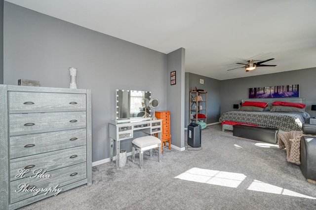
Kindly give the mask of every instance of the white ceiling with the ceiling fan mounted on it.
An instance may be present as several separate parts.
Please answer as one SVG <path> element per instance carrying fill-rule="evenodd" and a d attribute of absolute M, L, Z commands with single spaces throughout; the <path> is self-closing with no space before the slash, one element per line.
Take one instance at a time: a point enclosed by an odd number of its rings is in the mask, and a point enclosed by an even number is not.
<path fill-rule="evenodd" d="M 186 72 L 219 80 L 316 67 L 316 0 L 6 1 L 162 53 L 183 47 Z"/>

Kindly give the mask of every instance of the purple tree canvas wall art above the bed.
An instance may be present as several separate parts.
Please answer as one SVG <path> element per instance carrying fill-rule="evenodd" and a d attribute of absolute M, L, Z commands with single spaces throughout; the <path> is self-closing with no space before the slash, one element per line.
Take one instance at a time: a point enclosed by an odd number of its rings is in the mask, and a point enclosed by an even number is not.
<path fill-rule="evenodd" d="M 298 98 L 299 85 L 281 85 L 249 88 L 249 99 Z"/>

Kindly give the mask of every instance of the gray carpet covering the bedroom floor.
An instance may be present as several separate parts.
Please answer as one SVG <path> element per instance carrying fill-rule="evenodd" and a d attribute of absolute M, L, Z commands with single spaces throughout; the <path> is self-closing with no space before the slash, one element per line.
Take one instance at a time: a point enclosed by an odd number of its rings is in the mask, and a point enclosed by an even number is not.
<path fill-rule="evenodd" d="M 164 148 L 158 156 L 144 155 L 144 169 L 128 156 L 120 170 L 115 163 L 93 167 L 91 186 L 80 186 L 60 193 L 23 210 L 315 210 L 316 184 L 306 181 L 299 167 L 286 162 L 286 151 L 278 147 L 260 147 L 255 140 L 223 133 L 220 125 L 202 130 L 202 147 L 185 151 Z M 136 157 L 138 158 L 138 156 Z M 230 175 L 224 185 L 241 174 L 235 187 L 175 178 L 192 168 Z M 236 173 L 236 174 L 231 174 Z M 220 173 L 221 174 L 221 173 Z M 205 175 L 192 175 L 205 177 Z M 226 181 L 225 181 L 226 180 Z M 256 181 L 257 180 L 257 181 Z M 261 191 L 250 190 L 263 186 Z M 268 192 L 267 192 L 268 191 Z"/>

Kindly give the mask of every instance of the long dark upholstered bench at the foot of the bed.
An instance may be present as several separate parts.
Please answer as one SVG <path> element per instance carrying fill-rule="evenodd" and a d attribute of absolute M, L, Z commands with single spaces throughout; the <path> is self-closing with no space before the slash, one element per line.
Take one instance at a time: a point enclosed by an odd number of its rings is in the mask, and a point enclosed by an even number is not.
<path fill-rule="evenodd" d="M 277 143 L 277 129 L 247 125 L 234 125 L 233 136 L 268 143 Z"/>

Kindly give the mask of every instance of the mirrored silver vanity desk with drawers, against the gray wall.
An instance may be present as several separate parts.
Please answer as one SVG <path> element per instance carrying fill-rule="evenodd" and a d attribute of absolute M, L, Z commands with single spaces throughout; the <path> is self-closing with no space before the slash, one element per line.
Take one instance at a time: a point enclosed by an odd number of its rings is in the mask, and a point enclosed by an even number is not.
<path fill-rule="evenodd" d="M 135 131 L 142 131 L 148 135 L 158 134 L 161 140 L 161 121 L 162 119 L 151 120 L 150 118 L 132 118 L 120 121 L 109 122 L 110 138 L 110 162 L 113 161 L 113 144 L 116 141 L 116 168 L 119 169 L 120 141 L 134 138 Z"/>

